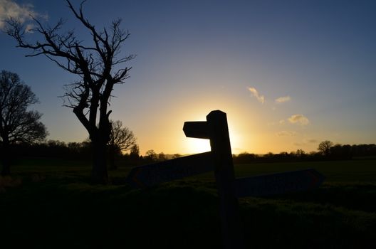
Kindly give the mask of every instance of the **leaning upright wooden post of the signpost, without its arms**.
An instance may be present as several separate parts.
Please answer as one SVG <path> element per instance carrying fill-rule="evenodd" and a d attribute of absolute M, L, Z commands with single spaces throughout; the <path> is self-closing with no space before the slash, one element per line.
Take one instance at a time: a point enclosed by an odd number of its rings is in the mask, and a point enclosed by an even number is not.
<path fill-rule="evenodd" d="M 221 231 L 224 248 L 244 248 L 226 113 L 219 110 L 210 112 L 207 115 L 207 124 L 211 153 L 214 157 L 214 174 L 221 201 Z"/>

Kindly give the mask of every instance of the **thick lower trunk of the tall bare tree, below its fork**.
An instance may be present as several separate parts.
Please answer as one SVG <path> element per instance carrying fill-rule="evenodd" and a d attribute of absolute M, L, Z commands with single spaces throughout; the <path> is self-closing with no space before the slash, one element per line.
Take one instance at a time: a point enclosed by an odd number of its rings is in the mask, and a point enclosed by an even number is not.
<path fill-rule="evenodd" d="M 94 184 L 108 184 L 106 143 L 93 141 L 93 170 L 91 179 Z"/>

